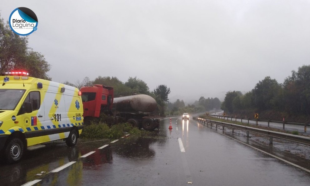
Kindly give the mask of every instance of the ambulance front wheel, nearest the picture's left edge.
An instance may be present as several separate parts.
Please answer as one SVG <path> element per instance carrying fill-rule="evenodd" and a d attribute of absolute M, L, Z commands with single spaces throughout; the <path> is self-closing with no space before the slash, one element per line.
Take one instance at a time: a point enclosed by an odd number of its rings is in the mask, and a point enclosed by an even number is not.
<path fill-rule="evenodd" d="M 8 164 L 18 162 L 24 154 L 24 144 L 19 138 L 12 138 L 4 149 L 5 159 Z"/>

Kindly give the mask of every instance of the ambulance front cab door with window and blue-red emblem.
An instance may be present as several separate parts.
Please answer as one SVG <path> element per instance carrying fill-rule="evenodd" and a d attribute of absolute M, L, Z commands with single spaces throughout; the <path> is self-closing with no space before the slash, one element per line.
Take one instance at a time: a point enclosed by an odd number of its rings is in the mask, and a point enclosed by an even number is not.
<path fill-rule="evenodd" d="M 26 113 L 25 105 L 31 103 L 32 112 Z M 45 128 L 42 123 L 45 120 L 44 104 L 41 104 L 41 93 L 37 90 L 30 90 L 22 107 L 18 112 L 22 116 L 22 129 L 27 135 L 27 145 L 34 145 L 44 142 Z"/>

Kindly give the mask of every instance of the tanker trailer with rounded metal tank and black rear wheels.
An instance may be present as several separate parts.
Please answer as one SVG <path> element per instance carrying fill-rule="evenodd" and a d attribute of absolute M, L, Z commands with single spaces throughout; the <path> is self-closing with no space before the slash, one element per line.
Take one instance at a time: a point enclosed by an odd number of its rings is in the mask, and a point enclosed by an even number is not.
<path fill-rule="evenodd" d="M 159 128 L 160 120 L 150 118 L 149 115 L 156 107 L 155 99 L 149 95 L 129 95 L 114 98 L 112 112 L 139 129 L 153 130 Z"/>

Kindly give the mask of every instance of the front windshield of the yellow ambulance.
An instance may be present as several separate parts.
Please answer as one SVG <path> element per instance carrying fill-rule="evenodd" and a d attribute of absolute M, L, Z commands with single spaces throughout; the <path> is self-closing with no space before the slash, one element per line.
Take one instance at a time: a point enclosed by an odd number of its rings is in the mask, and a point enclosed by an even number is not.
<path fill-rule="evenodd" d="M 0 89 L 0 110 L 14 110 L 25 90 Z"/>

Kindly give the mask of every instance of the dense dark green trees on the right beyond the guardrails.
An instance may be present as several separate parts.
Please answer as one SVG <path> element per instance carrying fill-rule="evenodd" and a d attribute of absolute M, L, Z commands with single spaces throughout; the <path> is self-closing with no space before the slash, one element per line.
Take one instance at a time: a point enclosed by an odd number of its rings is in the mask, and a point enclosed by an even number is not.
<path fill-rule="evenodd" d="M 252 116 L 259 113 L 263 119 L 295 122 L 310 121 L 310 65 L 303 65 L 298 71 L 284 79 L 283 83 L 266 76 L 252 91 L 229 91 L 221 109 L 237 116 Z"/>

